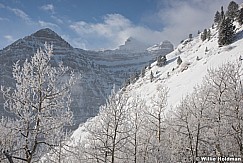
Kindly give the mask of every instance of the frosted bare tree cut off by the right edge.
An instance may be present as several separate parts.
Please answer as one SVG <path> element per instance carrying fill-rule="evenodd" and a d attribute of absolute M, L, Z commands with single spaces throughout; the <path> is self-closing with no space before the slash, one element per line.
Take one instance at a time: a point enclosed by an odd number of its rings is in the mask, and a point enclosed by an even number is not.
<path fill-rule="evenodd" d="M 237 153 L 243 159 L 243 85 L 242 85 L 242 63 L 226 64 L 226 74 L 229 77 L 227 80 L 227 106 L 225 117 L 229 132 L 230 143 L 228 146 L 229 152 Z M 227 141 L 229 141 L 227 140 Z M 226 150 L 226 149 L 225 149 Z"/>

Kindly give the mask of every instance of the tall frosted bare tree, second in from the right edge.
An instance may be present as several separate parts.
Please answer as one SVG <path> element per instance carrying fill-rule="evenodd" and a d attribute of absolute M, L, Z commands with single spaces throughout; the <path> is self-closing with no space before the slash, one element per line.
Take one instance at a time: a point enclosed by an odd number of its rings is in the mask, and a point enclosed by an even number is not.
<path fill-rule="evenodd" d="M 210 89 L 208 102 L 211 114 L 209 119 L 212 122 L 213 133 L 210 138 L 216 156 L 229 155 L 234 151 L 231 149 L 234 146 L 234 143 L 232 143 L 233 137 L 231 137 L 232 131 L 230 131 L 231 123 L 229 123 L 229 117 L 226 116 L 230 103 L 236 102 L 229 99 L 231 96 L 229 92 L 232 82 L 231 73 L 234 76 L 237 71 L 232 71 L 231 64 L 225 64 L 218 69 L 209 70 L 205 81 L 207 88 Z M 233 116 L 233 114 L 230 113 L 229 116 Z"/>

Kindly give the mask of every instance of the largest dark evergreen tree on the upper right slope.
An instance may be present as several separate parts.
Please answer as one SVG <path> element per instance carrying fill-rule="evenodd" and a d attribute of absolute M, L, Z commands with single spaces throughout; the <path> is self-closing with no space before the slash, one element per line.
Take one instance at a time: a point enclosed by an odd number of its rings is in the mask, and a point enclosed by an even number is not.
<path fill-rule="evenodd" d="M 223 18 L 219 27 L 219 46 L 229 45 L 233 41 L 235 26 L 230 18 Z"/>

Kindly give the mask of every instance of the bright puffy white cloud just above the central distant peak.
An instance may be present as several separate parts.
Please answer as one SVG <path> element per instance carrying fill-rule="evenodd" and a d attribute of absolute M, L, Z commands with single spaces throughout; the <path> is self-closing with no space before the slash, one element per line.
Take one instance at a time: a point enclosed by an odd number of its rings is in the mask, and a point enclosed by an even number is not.
<path fill-rule="evenodd" d="M 160 32 L 142 26 L 135 26 L 120 14 L 108 14 L 101 23 L 74 22 L 70 28 L 86 40 L 87 48 L 114 49 L 123 44 L 128 37 L 134 37 L 145 43 L 162 41 Z"/>

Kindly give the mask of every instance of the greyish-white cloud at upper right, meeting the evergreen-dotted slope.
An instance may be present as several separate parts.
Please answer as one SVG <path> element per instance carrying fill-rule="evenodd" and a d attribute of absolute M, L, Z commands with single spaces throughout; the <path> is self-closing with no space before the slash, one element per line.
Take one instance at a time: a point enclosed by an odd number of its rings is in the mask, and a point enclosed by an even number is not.
<path fill-rule="evenodd" d="M 215 12 L 220 11 L 222 5 L 227 10 L 230 1 L 164 0 L 160 1 L 160 10 L 155 17 L 163 22 L 163 38 L 178 44 L 190 33 L 196 34 L 198 30 L 209 28 L 213 24 Z"/>

